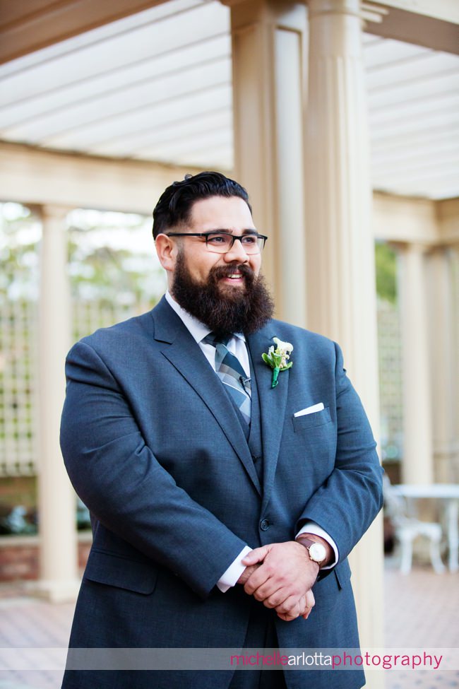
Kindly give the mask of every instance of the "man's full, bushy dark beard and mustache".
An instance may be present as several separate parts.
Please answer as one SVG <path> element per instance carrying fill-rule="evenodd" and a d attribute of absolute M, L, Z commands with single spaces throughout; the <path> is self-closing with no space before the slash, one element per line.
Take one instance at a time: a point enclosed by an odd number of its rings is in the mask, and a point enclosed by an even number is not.
<path fill-rule="evenodd" d="M 263 277 L 244 264 L 237 270 L 245 278 L 244 289 L 221 290 L 219 280 L 234 272 L 234 265 L 214 266 L 208 281 L 198 283 L 190 275 L 184 253 L 180 252 L 174 271 L 172 295 L 191 316 L 204 323 L 211 331 L 244 333 L 259 330 L 273 316 L 274 303 Z"/>

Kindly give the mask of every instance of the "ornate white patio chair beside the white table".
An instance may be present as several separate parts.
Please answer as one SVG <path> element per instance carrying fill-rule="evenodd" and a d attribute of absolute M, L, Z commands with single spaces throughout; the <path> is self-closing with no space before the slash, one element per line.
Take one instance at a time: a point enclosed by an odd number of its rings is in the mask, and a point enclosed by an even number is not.
<path fill-rule="evenodd" d="M 412 565 L 413 541 L 417 536 L 429 538 L 430 561 L 437 574 L 445 571 L 440 556 L 441 524 L 436 522 L 422 522 L 407 513 L 405 497 L 398 493 L 387 476 L 384 476 L 384 509 L 395 531 L 395 538 L 400 543 L 402 558 L 400 572 L 409 574 Z"/>

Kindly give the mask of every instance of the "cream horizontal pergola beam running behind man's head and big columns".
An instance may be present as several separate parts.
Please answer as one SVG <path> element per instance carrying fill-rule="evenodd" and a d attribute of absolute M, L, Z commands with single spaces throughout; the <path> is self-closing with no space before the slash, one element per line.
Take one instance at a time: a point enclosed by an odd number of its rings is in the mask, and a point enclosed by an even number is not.
<path fill-rule="evenodd" d="M 187 172 L 199 170 L 0 141 L 0 201 L 150 215 L 165 187 Z M 375 191 L 371 227 L 375 240 L 457 244 L 459 199 L 431 201 Z"/>

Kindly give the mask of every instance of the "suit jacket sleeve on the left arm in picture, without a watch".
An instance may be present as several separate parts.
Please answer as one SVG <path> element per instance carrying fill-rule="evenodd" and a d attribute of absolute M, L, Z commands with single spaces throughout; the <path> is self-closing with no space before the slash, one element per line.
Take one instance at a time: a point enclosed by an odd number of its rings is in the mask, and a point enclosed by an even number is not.
<path fill-rule="evenodd" d="M 61 449 L 76 493 L 107 529 L 207 596 L 246 543 L 158 463 L 88 343 L 68 353 L 66 377 Z"/>

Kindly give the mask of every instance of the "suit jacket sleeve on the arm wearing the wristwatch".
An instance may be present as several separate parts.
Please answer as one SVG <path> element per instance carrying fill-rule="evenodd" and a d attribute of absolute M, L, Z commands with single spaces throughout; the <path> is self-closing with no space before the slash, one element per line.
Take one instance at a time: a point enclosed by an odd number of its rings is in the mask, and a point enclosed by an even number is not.
<path fill-rule="evenodd" d="M 383 469 L 369 421 L 347 378 L 337 344 L 335 352 L 335 466 L 327 481 L 311 495 L 297 529 L 306 521 L 316 522 L 337 544 L 341 562 L 381 510 Z"/>

